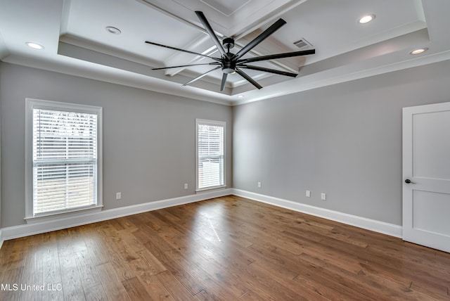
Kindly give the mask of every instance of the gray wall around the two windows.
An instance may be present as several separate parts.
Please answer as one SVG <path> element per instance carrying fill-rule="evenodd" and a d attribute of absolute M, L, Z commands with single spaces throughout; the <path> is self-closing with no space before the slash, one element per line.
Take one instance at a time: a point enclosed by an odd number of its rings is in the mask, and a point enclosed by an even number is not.
<path fill-rule="evenodd" d="M 195 118 L 227 123 L 232 185 L 228 106 L 8 63 L 0 79 L 2 228 L 24 224 L 25 98 L 103 107 L 105 210 L 195 193 Z M 115 200 L 119 191 L 122 200 Z"/>

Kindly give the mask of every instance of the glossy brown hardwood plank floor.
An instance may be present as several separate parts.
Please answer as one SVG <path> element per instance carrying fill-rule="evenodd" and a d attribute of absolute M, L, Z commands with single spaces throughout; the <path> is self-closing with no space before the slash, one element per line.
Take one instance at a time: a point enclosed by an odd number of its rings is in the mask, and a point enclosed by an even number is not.
<path fill-rule="evenodd" d="M 0 267 L 0 300 L 450 300 L 449 253 L 236 196 L 6 241 Z"/>

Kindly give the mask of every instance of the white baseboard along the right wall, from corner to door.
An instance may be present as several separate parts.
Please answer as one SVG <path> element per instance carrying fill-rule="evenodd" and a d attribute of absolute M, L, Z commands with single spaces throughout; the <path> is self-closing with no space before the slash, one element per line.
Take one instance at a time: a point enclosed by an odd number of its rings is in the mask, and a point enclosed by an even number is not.
<path fill-rule="evenodd" d="M 401 238 L 402 227 L 396 224 L 389 224 L 386 222 L 380 222 L 375 219 L 367 219 L 365 217 L 358 217 L 356 215 L 342 213 L 334 210 L 328 210 L 321 207 L 314 207 L 302 203 L 296 203 L 291 200 L 283 200 L 281 198 L 274 198 L 272 196 L 265 196 L 259 193 L 253 193 L 250 191 L 243 191 L 233 188 L 232 193 L 235 196 L 241 196 L 243 198 L 250 198 L 251 200 L 257 200 L 262 203 L 276 205 L 290 210 L 311 214 L 316 217 L 323 217 L 325 219 L 331 219 L 335 222 L 341 222 L 343 224 L 349 224 L 357 226 L 359 228 L 368 229 L 371 231 L 387 234 Z"/>

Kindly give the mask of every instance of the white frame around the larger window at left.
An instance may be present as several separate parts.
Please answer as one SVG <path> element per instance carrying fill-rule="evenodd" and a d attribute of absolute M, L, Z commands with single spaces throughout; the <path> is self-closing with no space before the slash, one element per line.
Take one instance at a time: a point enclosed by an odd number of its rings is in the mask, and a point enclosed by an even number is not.
<path fill-rule="evenodd" d="M 61 215 L 81 215 L 86 211 L 100 211 L 103 207 L 103 108 L 75 103 L 60 103 L 39 99 L 25 99 L 25 220 L 27 223 L 45 219 L 61 218 Z M 60 110 L 65 112 L 89 113 L 97 115 L 97 203 L 88 207 L 34 214 L 33 212 L 33 109 Z"/>

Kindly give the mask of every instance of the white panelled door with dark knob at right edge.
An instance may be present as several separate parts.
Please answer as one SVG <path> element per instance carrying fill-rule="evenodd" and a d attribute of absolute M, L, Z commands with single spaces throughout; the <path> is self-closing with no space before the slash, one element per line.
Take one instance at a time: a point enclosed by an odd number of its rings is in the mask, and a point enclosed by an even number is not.
<path fill-rule="evenodd" d="M 403 239 L 450 252 L 450 103 L 403 108 Z"/>

